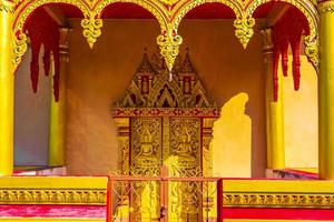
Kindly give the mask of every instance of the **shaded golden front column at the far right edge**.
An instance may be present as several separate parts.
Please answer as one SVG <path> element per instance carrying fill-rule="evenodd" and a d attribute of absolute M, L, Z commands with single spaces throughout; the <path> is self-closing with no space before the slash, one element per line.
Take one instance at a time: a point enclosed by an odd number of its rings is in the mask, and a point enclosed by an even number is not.
<path fill-rule="evenodd" d="M 321 65 L 318 77 L 320 178 L 334 180 L 334 1 L 318 4 Z"/>

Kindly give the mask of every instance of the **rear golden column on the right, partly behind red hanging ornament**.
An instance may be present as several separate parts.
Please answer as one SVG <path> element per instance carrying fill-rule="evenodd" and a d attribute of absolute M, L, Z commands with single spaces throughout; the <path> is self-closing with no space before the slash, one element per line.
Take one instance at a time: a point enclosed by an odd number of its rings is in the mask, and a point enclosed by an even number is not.
<path fill-rule="evenodd" d="M 267 133 L 267 169 L 285 168 L 284 150 L 284 111 L 283 111 L 283 75 L 278 72 L 278 100 L 274 101 L 274 44 L 272 29 L 262 30 L 264 37 L 265 92 L 266 92 L 266 133 Z"/>

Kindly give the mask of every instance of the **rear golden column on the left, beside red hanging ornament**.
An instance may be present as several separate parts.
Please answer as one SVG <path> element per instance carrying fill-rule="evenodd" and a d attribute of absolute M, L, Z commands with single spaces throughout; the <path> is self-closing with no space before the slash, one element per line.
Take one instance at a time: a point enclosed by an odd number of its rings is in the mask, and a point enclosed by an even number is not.
<path fill-rule="evenodd" d="M 50 102 L 50 135 L 49 135 L 49 165 L 65 165 L 65 124 L 66 124 L 66 79 L 69 62 L 69 33 L 70 29 L 60 28 L 60 72 L 59 72 L 59 101 L 53 98 L 51 87 Z M 55 62 L 51 68 L 51 82 L 55 71 Z"/>

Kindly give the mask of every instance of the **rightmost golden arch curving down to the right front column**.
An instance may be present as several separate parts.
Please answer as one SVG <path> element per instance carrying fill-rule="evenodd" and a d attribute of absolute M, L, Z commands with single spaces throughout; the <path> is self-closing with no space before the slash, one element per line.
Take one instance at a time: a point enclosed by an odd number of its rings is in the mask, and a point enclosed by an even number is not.
<path fill-rule="evenodd" d="M 316 71 L 318 71 L 318 27 L 320 27 L 320 16 L 312 0 L 279 0 L 281 2 L 288 3 L 297 8 L 306 18 L 310 26 L 310 34 L 305 37 L 305 54 L 312 62 Z M 252 16 L 254 11 L 265 4 L 271 2 L 271 0 L 252 0 L 246 8 L 246 13 Z"/>

